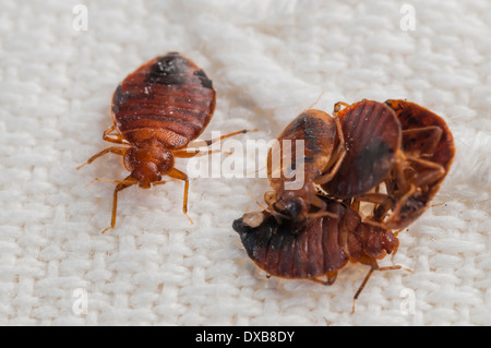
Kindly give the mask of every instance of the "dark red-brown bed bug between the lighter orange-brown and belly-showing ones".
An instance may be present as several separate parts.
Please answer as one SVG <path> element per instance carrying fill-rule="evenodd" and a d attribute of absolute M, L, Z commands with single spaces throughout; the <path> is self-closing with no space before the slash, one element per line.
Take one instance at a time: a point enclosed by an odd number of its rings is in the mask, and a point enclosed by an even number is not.
<path fill-rule="evenodd" d="M 343 124 L 347 154 L 337 173 L 322 188 L 340 199 L 359 196 L 390 175 L 400 148 L 400 123 L 387 105 L 367 99 L 350 106 L 337 103 L 334 116 Z"/>

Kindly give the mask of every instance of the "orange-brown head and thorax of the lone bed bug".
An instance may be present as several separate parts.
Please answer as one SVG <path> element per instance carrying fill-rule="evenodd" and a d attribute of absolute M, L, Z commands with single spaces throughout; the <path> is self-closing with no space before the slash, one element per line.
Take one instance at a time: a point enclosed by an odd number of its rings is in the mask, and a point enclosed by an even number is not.
<path fill-rule="evenodd" d="M 124 167 L 141 188 L 148 189 L 173 168 L 173 156 L 161 147 L 131 147 L 124 155 Z"/>

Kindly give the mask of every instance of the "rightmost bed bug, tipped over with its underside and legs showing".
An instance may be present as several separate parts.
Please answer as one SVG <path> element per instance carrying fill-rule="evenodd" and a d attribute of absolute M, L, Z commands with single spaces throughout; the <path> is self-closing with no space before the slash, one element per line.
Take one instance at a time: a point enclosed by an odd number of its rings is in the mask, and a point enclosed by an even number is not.
<path fill-rule="evenodd" d="M 406 100 L 386 100 L 403 128 L 399 158 L 385 187 L 390 205 L 375 211 L 381 220 L 392 209 L 385 226 L 402 229 L 421 216 L 429 207 L 452 165 L 455 146 L 445 121 L 434 112 Z"/>

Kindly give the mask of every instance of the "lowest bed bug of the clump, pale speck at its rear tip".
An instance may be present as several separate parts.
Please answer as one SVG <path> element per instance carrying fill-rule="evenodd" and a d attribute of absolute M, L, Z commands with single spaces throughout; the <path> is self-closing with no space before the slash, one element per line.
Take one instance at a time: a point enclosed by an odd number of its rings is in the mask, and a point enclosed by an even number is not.
<path fill-rule="evenodd" d="M 359 213 L 344 203 L 320 199 L 336 217 L 310 219 L 301 231 L 291 220 L 278 221 L 267 211 L 244 214 L 233 221 L 232 228 L 249 257 L 268 275 L 332 285 L 348 261 L 369 265 L 370 271 L 354 296 L 355 311 L 355 301 L 374 271 L 402 268 L 378 264 L 378 260 L 397 251 L 399 241 L 391 230 L 363 223 Z"/>

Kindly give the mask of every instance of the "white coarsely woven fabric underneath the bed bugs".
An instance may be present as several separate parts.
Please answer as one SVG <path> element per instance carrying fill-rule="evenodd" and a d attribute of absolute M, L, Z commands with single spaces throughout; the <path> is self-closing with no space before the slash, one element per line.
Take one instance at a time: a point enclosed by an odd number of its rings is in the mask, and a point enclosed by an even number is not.
<path fill-rule="evenodd" d="M 0 2 L 0 324 L 491 324 L 491 2 L 83 1 L 86 23 L 80 2 Z M 192 180 L 192 226 L 182 182 L 133 187 L 100 235 L 113 184 L 85 184 L 128 173 L 115 155 L 75 167 L 110 146 L 117 84 L 167 51 L 217 89 L 202 139 L 274 139 L 322 92 L 327 112 L 407 98 L 441 115 L 457 148 L 444 205 L 399 235 L 393 260 L 414 274 L 375 273 L 355 314 L 366 266 L 331 287 L 267 279 L 231 229 L 264 179 Z"/>

